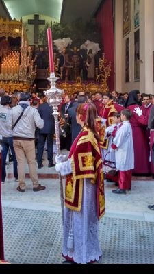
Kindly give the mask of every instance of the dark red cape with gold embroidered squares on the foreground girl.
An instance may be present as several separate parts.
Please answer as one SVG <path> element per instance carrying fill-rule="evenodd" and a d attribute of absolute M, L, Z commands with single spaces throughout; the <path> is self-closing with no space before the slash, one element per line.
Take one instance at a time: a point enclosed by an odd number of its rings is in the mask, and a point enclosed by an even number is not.
<path fill-rule="evenodd" d="M 97 184 L 97 216 L 100 219 L 105 213 L 101 149 L 94 134 L 86 127 L 73 142 L 69 158 L 73 173 L 66 176 L 66 208 L 81 210 L 84 179 L 90 179 L 92 184 Z"/>

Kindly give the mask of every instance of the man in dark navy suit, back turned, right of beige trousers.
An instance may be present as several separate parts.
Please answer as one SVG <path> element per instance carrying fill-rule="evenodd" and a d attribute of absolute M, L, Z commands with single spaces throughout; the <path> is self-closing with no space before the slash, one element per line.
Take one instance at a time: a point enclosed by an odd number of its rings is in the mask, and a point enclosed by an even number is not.
<path fill-rule="evenodd" d="M 41 169 L 42 165 L 42 155 L 44 151 L 45 141 L 47 139 L 47 158 L 48 167 L 55 166 L 53 164 L 53 134 L 55 133 L 55 121 L 53 117 L 53 108 L 47 103 L 47 98 L 42 95 L 41 98 L 43 103 L 39 105 L 38 112 L 41 118 L 44 120 L 44 127 L 39 129 L 38 136 L 38 148 L 37 148 L 37 160 L 38 169 Z"/>

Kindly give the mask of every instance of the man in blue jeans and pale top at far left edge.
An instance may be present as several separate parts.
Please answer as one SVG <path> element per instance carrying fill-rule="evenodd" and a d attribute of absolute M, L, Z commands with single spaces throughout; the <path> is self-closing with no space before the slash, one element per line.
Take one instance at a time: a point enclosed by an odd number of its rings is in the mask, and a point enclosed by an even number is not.
<path fill-rule="evenodd" d="M 8 129 L 7 119 L 8 113 L 10 112 L 10 103 L 11 99 L 9 96 L 4 95 L 1 97 L 1 105 L 0 105 L 0 143 L 2 146 L 2 175 L 1 175 L 1 182 L 5 182 L 6 177 L 6 158 L 8 154 L 8 149 L 10 148 L 13 158 L 13 166 L 14 166 L 14 177 L 16 181 L 18 180 L 18 171 L 17 171 L 17 162 L 16 162 L 16 155 L 14 152 L 13 147 L 13 137 L 12 137 L 12 129 Z"/>

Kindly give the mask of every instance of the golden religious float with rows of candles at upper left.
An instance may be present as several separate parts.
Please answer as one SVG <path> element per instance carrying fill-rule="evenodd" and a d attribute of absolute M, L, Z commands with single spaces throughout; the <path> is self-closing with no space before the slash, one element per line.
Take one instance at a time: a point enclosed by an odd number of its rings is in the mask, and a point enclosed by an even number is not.
<path fill-rule="evenodd" d="M 7 52 L 1 47 L 0 87 L 8 92 L 15 89 L 30 90 L 36 76 L 36 66 L 32 60 L 31 47 L 27 45 L 27 37 L 22 21 L 9 21 L 0 18 L 0 37 L 3 45 L 7 44 L 8 37 L 21 37 L 21 51 Z"/>

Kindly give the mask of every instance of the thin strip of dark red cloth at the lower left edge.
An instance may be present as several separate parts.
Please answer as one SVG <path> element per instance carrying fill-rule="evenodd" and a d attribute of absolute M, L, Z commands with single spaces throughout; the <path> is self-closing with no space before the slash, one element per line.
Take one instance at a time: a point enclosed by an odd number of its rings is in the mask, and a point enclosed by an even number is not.
<path fill-rule="evenodd" d="M 0 153 L 0 260 L 4 259 L 3 252 L 3 223 L 2 223 L 2 208 L 1 208 L 1 153 Z"/>

